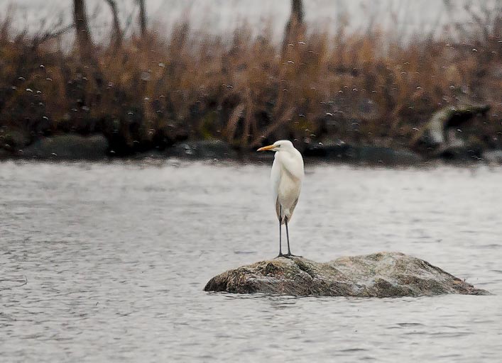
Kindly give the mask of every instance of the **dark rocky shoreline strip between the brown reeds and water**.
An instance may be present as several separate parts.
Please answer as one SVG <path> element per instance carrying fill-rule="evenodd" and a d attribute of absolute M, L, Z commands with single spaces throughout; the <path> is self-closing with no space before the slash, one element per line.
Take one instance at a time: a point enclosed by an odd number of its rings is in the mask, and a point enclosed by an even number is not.
<path fill-rule="evenodd" d="M 73 135 L 75 136 L 75 135 Z M 180 162 L 232 162 L 237 164 L 259 164 L 273 161 L 273 153 L 256 153 L 251 149 L 236 150 L 221 140 L 185 141 L 175 143 L 164 150 L 152 149 L 130 155 L 116 155 L 109 150 L 106 139 L 99 140 L 101 145 L 84 145 L 85 138 L 77 145 L 65 147 L 72 135 L 45 138 L 46 143 L 33 143 L 25 150 L 9 152 L 0 148 L 0 162 L 32 161 L 32 162 L 141 162 L 145 160 L 179 160 Z M 58 144 L 59 138 L 64 141 Z M 50 141 L 47 141 L 50 139 Z M 47 145 L 49 144 L 49 145 Z M 502 150 L 473 150 L 460 148 L 457 153 L 447 156 L 430 157 L 420 155 L 407 148 L 393 149 L 375 145 L 302 145 L 300 150 L 305 164 L 354 165 L 361 167 L 435 167 L 437 165 L 454 165 L 469 167 L 476 164 L 502 165 Z M 56 152 L 58 151 L 58 152 Z M 90 153 L 88 153 L 90 152 Z M 469 155 L 469 152 L 472 155 Z M 480 155 L 480 156 L 479 156 Z"/>

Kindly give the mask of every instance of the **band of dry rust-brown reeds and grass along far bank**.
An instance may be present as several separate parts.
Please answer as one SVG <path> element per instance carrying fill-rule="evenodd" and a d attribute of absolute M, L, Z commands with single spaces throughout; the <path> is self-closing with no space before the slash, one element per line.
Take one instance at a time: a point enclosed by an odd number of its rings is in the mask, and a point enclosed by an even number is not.
<path fill-rule="evenodd" d="M 242 149 L 279 138 L 410 147 L 432 113 L 459 104 L 491 106 L 470 137 L 501 147 L 502 11 L 457 40 L 408 42 L 378 28 L 322 33 L 298 14 L 283 44 L 270 30 L 224 38 L 184 20 L 165 37 L 142 26 L 123 38 L 117 20 L 109 45 L 79 32 L 73 50 L 4 18 L 0 147 L 67 132 L 103 133 L 117 155 L 211 138 Z"/>

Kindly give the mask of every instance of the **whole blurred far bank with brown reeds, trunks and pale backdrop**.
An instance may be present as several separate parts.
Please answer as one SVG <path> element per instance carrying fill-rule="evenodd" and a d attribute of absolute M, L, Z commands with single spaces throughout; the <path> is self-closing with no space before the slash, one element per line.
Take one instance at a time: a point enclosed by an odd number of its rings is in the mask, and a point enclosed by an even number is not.
<path fill-rule="evenodd" d="M 0 13 L 4 157 L 228 157 L 281 138 L 349 161 L 502 157 L 498 1 L 19 0 Z"/>

